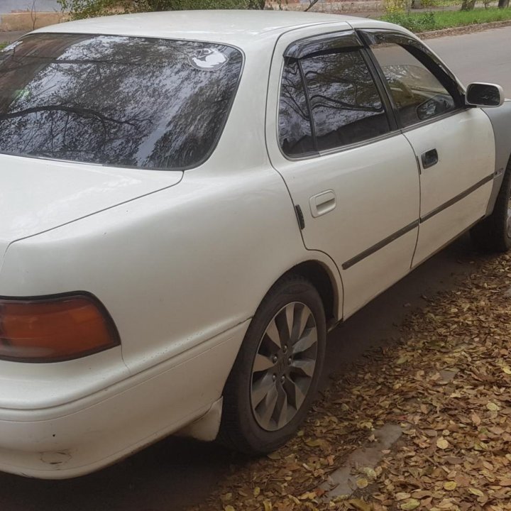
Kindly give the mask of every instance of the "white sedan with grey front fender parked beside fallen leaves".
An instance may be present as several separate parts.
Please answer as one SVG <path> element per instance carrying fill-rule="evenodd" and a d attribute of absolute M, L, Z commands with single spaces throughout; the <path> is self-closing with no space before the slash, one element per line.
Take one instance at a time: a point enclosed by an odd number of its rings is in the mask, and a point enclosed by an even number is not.
<path fill-rule="evenodd" d="M 329 329 L 467 229 L 510 248 L 510 153 L 502 89 L 389 23 L 150 13 L 13 43 L 0 470 L 79 476 L 176 432 L 278 448 Z"/>

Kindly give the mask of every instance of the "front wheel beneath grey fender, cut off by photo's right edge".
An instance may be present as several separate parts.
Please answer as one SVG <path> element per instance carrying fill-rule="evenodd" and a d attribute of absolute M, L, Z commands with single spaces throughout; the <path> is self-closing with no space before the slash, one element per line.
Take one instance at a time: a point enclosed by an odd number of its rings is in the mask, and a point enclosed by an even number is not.
<path fill-rule="evenodd" d="M 493 213 L 471 229 L 473 243 L 480 251 L 507 252 L 511 248 L 511 160 L 507 163 Z"/>

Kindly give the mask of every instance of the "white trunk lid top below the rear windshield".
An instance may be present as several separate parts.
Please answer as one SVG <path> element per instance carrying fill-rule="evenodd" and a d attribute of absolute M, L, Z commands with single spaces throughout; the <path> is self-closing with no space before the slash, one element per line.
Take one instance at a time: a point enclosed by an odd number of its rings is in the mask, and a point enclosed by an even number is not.
<path fill-rule="evenodd" d="M 0 266 L 13 241 L 177 185 L 182 174 L 0 155 Z"/>

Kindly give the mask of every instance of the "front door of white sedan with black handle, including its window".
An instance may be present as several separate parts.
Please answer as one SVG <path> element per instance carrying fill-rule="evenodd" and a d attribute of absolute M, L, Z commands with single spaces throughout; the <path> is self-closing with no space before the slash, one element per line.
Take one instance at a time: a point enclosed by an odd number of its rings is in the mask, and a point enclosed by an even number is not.
<path fill-rule="evenodd" d="M 493 128 L 481 109 L 465 106 L 456 79 L 418 40 L 388 31 L 362 35 L 420 167 L 417 265 L 485 215 Z"/>

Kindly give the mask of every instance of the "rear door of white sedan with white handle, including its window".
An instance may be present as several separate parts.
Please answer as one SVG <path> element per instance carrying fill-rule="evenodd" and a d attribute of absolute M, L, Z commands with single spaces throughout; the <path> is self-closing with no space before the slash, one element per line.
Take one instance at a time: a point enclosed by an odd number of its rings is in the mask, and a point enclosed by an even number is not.
<path fill-rule="evenodd" d="M 306 34 L 287 33 L 275 49 L 268 153 L 305 246 L 341 272 L 347 317 L 410 271 L 419 175 L 356 33 Z"/>

